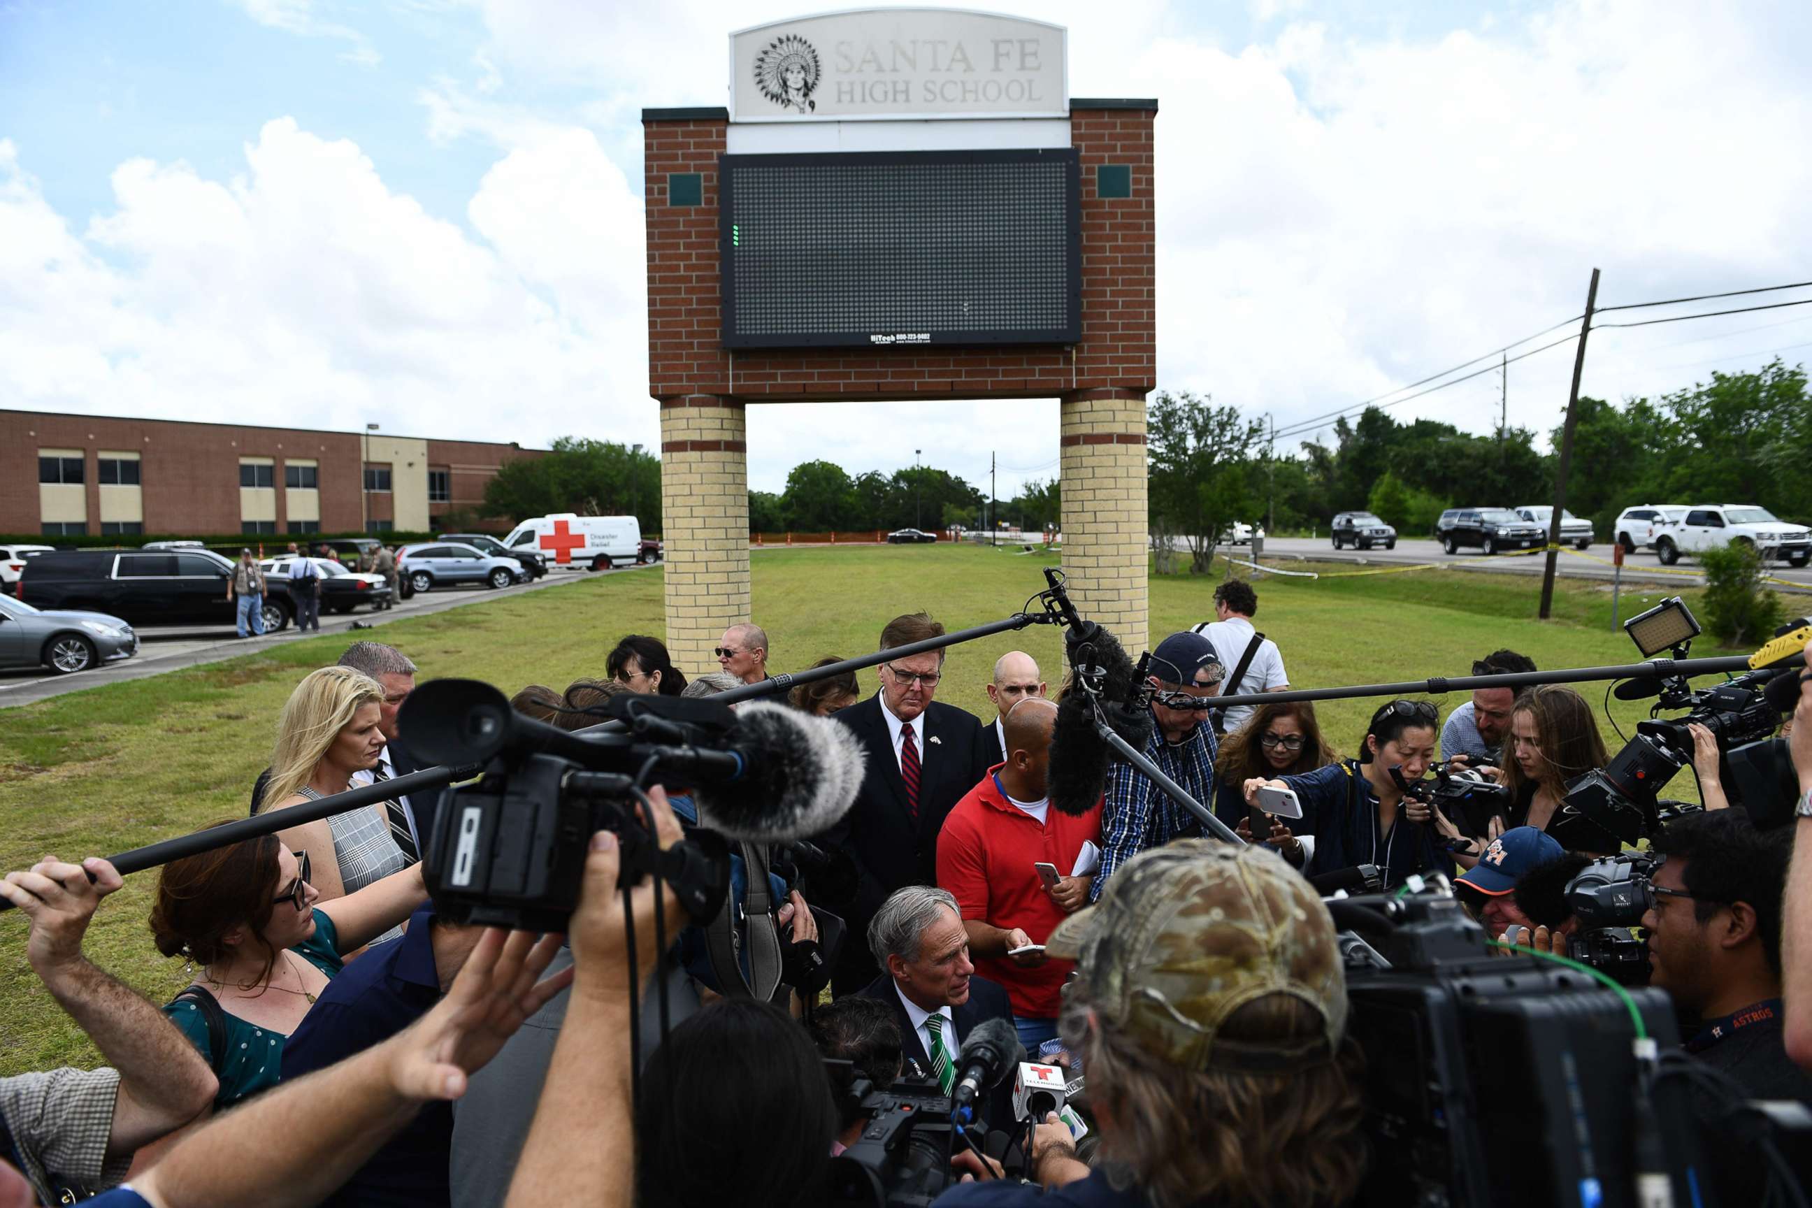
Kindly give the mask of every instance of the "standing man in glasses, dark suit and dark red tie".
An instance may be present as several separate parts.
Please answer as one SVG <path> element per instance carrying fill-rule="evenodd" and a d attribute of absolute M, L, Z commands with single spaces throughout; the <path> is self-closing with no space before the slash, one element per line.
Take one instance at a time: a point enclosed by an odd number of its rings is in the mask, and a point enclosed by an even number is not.
<path fill-rule="evenodd" d="M 922 612 L 881 630 L 881 650 L 940 638 L 944 627 Z M 937 884 L 937 833 L 944 817 L 988 775 L 989 746 L 973 714 L 939 705 L 944 652 L 881 665 L 881 692 L 835 714 L 868 752 L 861 793 L 826 840 L 861 873 L 850 931 L 863 935 L 881 902 L 901 886 Z M 861 944 L 844 944 L 832 987 L 853 994 L 881 969 Z"/>

